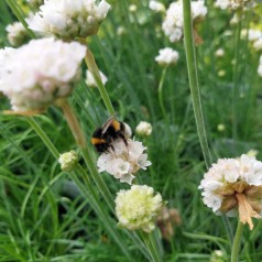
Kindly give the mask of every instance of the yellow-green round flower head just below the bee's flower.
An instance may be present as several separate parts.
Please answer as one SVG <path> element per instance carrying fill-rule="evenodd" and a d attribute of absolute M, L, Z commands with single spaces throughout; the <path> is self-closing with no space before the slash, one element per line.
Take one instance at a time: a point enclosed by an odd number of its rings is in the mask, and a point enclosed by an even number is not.
<path fill-rule="evenodd" d="M 162 196 L 146 185 L 133 185 L 129 190 L 120 190 L 116 198 L 116 214 L 119 227 L 129 230 L 141 229 L 150 233 L 163 207 Z"/>

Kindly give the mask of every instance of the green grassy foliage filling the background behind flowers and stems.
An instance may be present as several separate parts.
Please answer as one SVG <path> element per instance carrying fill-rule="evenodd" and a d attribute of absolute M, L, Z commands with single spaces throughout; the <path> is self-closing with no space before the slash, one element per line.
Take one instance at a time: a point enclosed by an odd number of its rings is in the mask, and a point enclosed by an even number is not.
<path fill-rule="evenodd" d="M 163 1 L 166 7 L 170 2 Z M 247 39 L 239 40 L 237 137 L 233 137 L 232 59 L 237 26 L 230 25 L 231 12 L 215 9 L 212 1 L 207 2 L 207 19 L 198 28 L 203 44 L 196 46 L 196 54 L 214 161 L 237 157 L 251 149 L 258 150 L 258 159 L 261 159 L 261 79 L 256 73 L 260 54 Z M 117 117 L 133 130 L 140 121 L 153 125 L 152 135 L 143 139 L 152 166 L 140 172 L 139 181 L 160 192 L 168 201 L 167 206 L 175 207 L 182 217 L 182 225 L 175 228 L 171 241 L 162 241 L 164 261 L 209 261 L 214 250 L 221 250 L 228 259 L 230 243 L 221 217 L 204 206 L 198 190 L 206 170 L 190 102 L 184 45 L 168 42 L 161 30 L 163 17 L 148 8 L 148 0 L 111 3 L 112 10 L 99 35 L 88 40 L 89 47 L 99 69 L 109 79 L 106 87 Z M 131 3 L 137 4 L 135 12 L 129 11 Z M 0 1 L 0 46 L 6 46 L 4 28 L 15 17 L 6 1 Z M 242 28 L 250 24 L 261 28 L 258 15 L 261 15 L 261 7 L 254 12 L 248 11 Z M 118 33 L 120 28 L 123 29 L 121 35 Z M 163 114 L 159 102 L 163 68 L 154 57 L 165 46 L 177 50 L 179 61 L 166 72 L 163 88 L 166 114 Z M 226 52 L 221 58 L 215 56 L 219 47 Z M 85 70 L 83 65 L 83 76 Z M 225 76 L 220 77 L 219 70 L 225 70 Z M 7 99 L 0 97 L 0 100 L 1 110 L 9 109 Z M 88 146 L 91 146 L 89 141 L 94 130 L 109 117 L 99 91 L 87 87 L 83 77 L 70 101 L 85 130 Z M 57 108 L 51 107 L 35 119 L 59 152 L 76 149 Z M 89 199 L 67 174 L 61 173 L 25 117 L 1 114 L 0 121 L 0 261 L 127 261 L 107 234 Z M 225 130 L 219 131 L 219 124 L 223 124 Z M 127 188 L 107 174 L 102 177 L 113 195 L 120 188 Z M 106 201 L 100 200 L 109 211 Z M 234 230 L 234 219 L 229 222 Z M 254 223 L 252 232 L 244 229 L 242 261 L 262 260 L 262 223 L 256 220 Z M 145 261 L 133 242 L 128 239 L 127 242 L 133 258 Z"/>

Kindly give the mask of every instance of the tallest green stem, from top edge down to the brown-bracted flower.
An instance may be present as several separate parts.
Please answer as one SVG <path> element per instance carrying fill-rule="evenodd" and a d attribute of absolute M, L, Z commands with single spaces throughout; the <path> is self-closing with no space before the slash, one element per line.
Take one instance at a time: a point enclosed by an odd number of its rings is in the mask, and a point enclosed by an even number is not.
<path fill-rule="evenodd" d="M 206 166 L 207 168 L 209 168 L 209 166 L 211 165 L 211 155 L 208 148 L 207 132 L 205 128 L 205 121 L 201 109 L 200 90 L 198 86 L 196 54 L 193 40 L 190 0 L 183 0 L 183 15 L 184 15 L 185 51 L 186 51 L 187 70 L 193 100 L 193 108 L 201 151 L 204 154 Z"/>

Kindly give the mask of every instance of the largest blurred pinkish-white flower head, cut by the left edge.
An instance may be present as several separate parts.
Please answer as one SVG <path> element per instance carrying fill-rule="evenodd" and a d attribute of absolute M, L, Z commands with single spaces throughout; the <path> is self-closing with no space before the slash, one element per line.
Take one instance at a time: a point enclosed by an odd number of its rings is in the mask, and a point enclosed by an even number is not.
<path fill-rule="evenodd" d="M 54 39 L 0 50 L 0 91 L 14 111 L 44 110 L 70 94 L 85 54 L 86 47 L 79 43 Z"/>

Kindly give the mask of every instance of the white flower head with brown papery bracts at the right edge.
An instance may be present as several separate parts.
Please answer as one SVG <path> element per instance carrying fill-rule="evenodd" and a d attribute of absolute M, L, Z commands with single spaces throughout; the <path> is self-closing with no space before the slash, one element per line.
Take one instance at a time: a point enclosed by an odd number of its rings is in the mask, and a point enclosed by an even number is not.
<path fill-rule="evenodd" d="M 240 221 L 253 228 L 252 217 L 262 211 L 262 163 L 242 154 L 222 159 L 209 168 L 199 186 L 204 204 L 214 212 L 239 215 Z"/>

